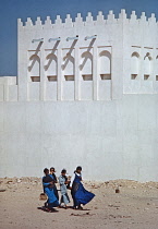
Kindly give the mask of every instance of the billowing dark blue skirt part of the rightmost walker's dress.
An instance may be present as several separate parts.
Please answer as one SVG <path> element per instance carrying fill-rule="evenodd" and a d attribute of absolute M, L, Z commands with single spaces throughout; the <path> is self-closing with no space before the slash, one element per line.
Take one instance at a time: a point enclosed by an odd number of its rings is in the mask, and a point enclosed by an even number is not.
<path fill-rule="evenodd" d="M 85 205 L 90 202 L 95 194 L 85 190 L 82 183 L 78 183 L 77 190 L 73 193 L 75 205 L 78 206 L 81 204 Z"/>

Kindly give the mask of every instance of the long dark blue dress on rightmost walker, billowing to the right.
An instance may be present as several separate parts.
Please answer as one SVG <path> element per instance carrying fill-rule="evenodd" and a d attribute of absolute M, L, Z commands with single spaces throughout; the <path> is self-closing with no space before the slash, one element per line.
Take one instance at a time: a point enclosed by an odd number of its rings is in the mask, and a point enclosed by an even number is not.
<path fill-rule="evenodd" d="M 92 192 L 88 192 L 87 190 L 85 190 L 85 188 L 83 186 L 82 182 L 82 177 L 77 176 L 75 173 L 75 179 L 73 181 L 72 184 L 72 197 L 74 201 L 74 207 L 80 206 L 81 204 L 85 205 L 88 202 L 90 202 L 95 194 Z"/>

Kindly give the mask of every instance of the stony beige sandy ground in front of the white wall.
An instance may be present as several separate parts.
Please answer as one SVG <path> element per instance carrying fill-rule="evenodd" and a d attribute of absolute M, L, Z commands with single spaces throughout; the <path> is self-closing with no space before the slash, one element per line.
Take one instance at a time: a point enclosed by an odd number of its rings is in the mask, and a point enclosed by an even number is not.
<path fill-rule="evenodd" d="M 39 200 L 40 179 L 0 179 L 0 228 L 158 229 L 158 182 L 86 181 L 84 185 L 96 196 L 83 210 L 47 213 Z"/>

